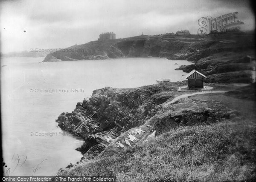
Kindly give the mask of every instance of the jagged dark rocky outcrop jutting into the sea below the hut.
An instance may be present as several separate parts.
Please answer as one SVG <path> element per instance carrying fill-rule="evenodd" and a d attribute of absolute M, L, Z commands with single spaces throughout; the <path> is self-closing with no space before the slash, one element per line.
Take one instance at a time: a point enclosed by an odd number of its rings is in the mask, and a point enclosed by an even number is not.
<path fill-rule="evenodd" d="M 129 128 L 139 126 L 145 118 L 154 115 L 159 104 L 170 96 L 158 98 L 170 86 L 145 86 L 142 88 L 102 88 L 93 91 L 89 100 L 76 105 L 72 113 L 62 113 L 56 122 L 73 134 L 83 137 L 84 145 L 78 148 L 87 159 L 102 152 L 116 137 Z"/>

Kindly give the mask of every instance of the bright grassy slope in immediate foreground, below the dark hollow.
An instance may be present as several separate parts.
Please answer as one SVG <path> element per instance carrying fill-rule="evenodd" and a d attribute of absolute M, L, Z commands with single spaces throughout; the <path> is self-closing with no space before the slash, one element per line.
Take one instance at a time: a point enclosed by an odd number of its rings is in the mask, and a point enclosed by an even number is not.
<path fill-rule="evenodd" d="M 239 93 L 235 93 L 237 97 Z M 208 107 L 221 102 L 240 114 L 211 125 L 177 127 L 149 142 L 65 169 L 61 175 L 116 175 L 124 182 L 256 179 L 254 100 L 208 94 L 182 102 L 198 100 Z"/>

